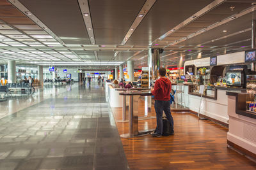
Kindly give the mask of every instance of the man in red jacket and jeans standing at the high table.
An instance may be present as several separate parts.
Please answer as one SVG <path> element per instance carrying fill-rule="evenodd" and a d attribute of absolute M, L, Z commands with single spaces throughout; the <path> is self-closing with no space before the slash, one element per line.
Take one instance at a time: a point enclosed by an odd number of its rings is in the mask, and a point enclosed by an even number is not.
<path fill-rule="evenodd" d="M 155 99 L 155 111 L 156 111 L 156 131 L 152 134 L 153 137 L 161 137 L 163 133 L 163 111 L 166 118 L 169 120 L 171 132 L 173 131 L 173 117 L 170 109 L 170 93 L 172 90 L 171 81 L 165 77 L 166 69 L 161 67 L 159 69 L 160 78 L 156 80 L 154 88 L 151 87 L 152 94 Z"/>

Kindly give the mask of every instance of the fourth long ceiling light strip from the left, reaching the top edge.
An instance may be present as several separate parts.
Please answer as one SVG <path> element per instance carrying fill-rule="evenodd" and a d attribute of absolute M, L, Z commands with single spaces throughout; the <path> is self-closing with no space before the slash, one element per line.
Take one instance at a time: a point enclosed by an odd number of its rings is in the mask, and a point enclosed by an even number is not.
<path fill-rule="evenodd" d="M 166 38 L 167 36 L 170 36 L 170 34 L 172 34 L 173 32 L 181 29 L 182 27 L 188 25 L 189 23 L 193 22 L 194 20 L 196 20 L 198 17 L 204 15 L 205 13 L 207 13 L 208 11 L 211 11 L 213 8 L 216 8 L 216 6 L 219 6 L 220 4 L 224 3 L 225 0 L 215 0 L 212 3 L 210 3 L 209 5 L 205 6 L 204 8 L 202 8 L 202 10 L 196 12 L 194 15 L 192 15 L 191 17 L 187 18 L 186 20 L 184 20 L 184 22 L 181 22 L 179 25 L 177 25 L 176 27 L 173 27 L 172 29 L 170 29 L 170 31 L 166 32 L 165 34 L 163 34 L 163 36 L 157 38 L 156 40 L 154 40 L 152 42 L 152 44 L 157 43 L 157 41 L 160 41 L 164 38 Z M 169 46 L 169 45 L 168 45 Z"/>

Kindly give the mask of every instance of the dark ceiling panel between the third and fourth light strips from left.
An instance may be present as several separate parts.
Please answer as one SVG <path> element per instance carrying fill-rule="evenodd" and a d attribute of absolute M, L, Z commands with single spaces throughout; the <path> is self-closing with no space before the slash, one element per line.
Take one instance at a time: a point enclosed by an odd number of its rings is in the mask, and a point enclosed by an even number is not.
<path fill-rule="evenodd" d="M 148 45 L 211 2 L 212 0 L 156 1 L 127 44 Z"/>

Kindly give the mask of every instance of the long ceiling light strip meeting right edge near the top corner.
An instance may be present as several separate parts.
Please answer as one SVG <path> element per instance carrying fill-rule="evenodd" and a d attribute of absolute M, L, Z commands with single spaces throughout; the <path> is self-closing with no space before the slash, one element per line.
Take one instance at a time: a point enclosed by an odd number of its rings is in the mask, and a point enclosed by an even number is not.
<path fill-rule="evenodd" d="M 175 43 L 170 43 L 169 45 L 165 46 L 165 48 L 168 47 L 168 46 L 170 46 L 170 45 L 177 45 L 178 43 L 181 43 L 182 41 L 185 41 L 185 40 L 187 40 L 187 39 L 189 39 L 189 38 L 193 38 L 193 37 L 195 37 L 195 36 L 198 36 L 199 34 L 202 34 L 202 33 L 204 33 L 205 31 L 209 31 L 209 30 L 211 30 L 211 29 L 214 29 L 214 28 L 216 28 L 216 27 L 219 27 L 220 25 L 227 24 L 228 22 L 234 20 L 234 19 L 230 19 L 230 18 L 232 18 L 232 17 L 234 17 L 234 18 L 243 17 L 243 15 L 246 15 L 246 14 L 248 14 L 248 13 L 251 13 L 251 12 L 253 12 L 253 11 L 255 11 L 255 10 L 256 10 L 256 7 L 252 6 L 252 7 L 248 8 L 248 9 L 246 9 L 246 10 L 241 11 L 240 13 L 237 13 L 236 15 L 232 15 L 232 16 L 230 16 L 230 17 L 228 17 L 228 18 L 225 18 L 225 19 L 221 20 L 220 22 L 216 22 L 215 24 L 212 24 L 212 25 L 210 25 L 209 27 L 206 27 L 206 28 L 204 28 L 204 29 L 198 31 L 198 32 L 196 32 L 196 33 L 193 34 L 193 35 L 191 34 L 191 35 L 187 36 L 186 38 L 182 38 L 182 39 L 180 39 L 179 41 L 175 41 Z"/>

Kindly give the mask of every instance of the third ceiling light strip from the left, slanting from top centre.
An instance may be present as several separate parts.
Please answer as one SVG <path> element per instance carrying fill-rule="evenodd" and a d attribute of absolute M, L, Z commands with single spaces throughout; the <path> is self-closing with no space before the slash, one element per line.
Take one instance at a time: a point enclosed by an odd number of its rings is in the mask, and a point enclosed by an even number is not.
<path fill-rule="evenodd" d="M 131 37 L 132 33 L 135 31 L 135 29 L 140 25 L 140 22 L 145 18 L 148 11 L 152 8 L 154 3 L 156 3 L 157 0 L 147 0 L 143 7 L 141 8 L 140 12 L 138 13 L 137 17 L 133 21 L 131 27 L 125 34 L 125 37 L 123 41 L 121 42 L 121 45 L 125 45 L 125 43 L 128 41 L 128 39 Z M 115 59 L 116 55 L 118 55 L 118 52 L 115 52 L 114 57 L 112 59 Z"/>

